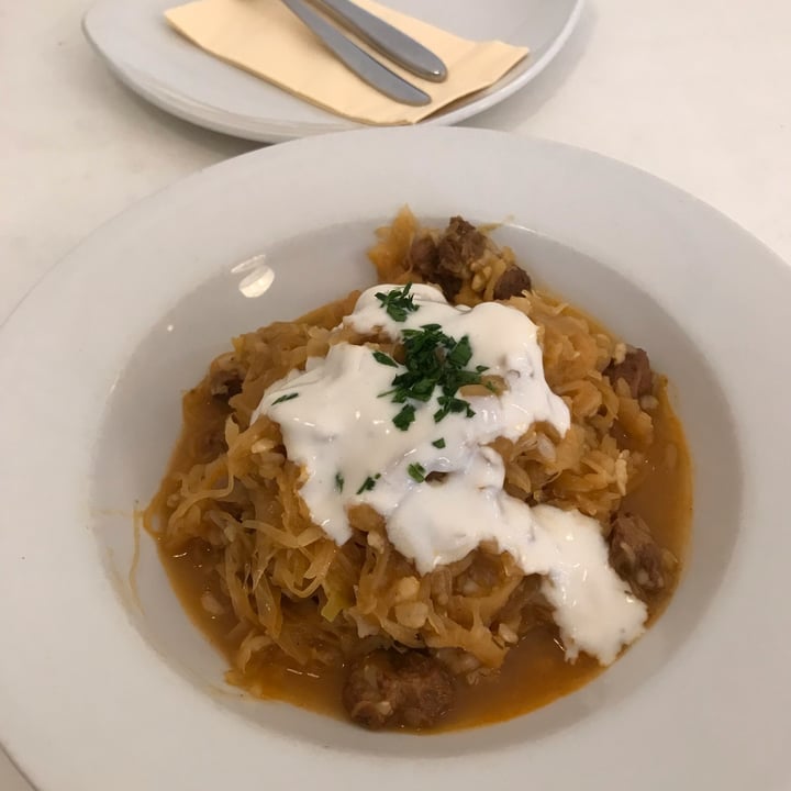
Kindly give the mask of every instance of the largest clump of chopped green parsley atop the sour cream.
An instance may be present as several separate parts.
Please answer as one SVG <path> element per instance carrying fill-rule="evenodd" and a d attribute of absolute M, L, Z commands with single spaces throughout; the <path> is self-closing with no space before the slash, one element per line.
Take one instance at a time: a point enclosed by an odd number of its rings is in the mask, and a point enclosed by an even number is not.
<path fill-rule="evenodd" d="M 381 393 L 390 396 L 393 403 L 404 404 L 393 417 L 396 426 L 406 431 L 415 419 L 415 409 L 409 402 L 430 401 L 436 388 L 442 391 L 437 398 L 439 409 L 434 413 L 436 423 L 450 413 L 464 412 L 471 417 L 475 411 L 469 402 L 456 393 L 466 385 L 480 385 L 487 366 L 477 366 L 475 370 L 465 368 L 472 359 L 469 336 L 456 339 L 446 335 L 439 324 L 403 330 L 401 336 L 405 370 L 393 378 L 391 390 Z"/>

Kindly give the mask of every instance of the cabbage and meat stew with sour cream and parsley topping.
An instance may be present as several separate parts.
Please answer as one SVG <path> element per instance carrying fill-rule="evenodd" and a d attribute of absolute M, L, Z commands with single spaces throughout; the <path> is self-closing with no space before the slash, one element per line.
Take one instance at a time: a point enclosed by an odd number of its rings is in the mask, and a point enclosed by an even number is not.
<path fill-rule="evenodd" d="M 461 218 L 233 341 L 146 525 L 227 680 L 369 728 L 508 718 L 611 665 L 683 564 L 667 380 Z"/>

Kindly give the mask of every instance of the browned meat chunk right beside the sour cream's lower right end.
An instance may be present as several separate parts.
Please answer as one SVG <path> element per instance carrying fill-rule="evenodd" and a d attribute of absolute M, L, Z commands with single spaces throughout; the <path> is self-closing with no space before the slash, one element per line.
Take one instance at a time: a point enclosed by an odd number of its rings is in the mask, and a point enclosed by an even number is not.
<path fill-rule="evenodd" d="M 610 565 L 636 594 L 665 588 L 668 561 L 672 556 L 656 543 L 639 516 L 625 511 L 615 514 L 610 532 Z"/>

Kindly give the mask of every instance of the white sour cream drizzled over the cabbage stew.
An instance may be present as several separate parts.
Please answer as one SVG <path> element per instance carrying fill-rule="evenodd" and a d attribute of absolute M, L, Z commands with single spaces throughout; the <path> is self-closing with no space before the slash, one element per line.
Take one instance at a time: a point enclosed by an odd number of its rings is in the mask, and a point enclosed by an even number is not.
<path fill-rule="evenodd" d="M 438 423 L 435 392 L 426 403 L 414 402 L 415 420 L 401 431 L 392 422 L 401 404 L 379 394 L 391 389 L 403 366 L 382 365 L 369 347 L 342 343 L 325 358 L 309 359 L 304 372 L 269 387 L 252 420 L 267 414 L 280 424 L 289 458 L 303 468 L 300 493 L 336 544 L 352 536 L 346 510 L 359 503 L 385 516 L 391 543 L 422 575 L 492 542 L 524 573 L 544 577 L 566 658 L 582 650 L 611 664 L 643 633 L 647 611 L 609 565 L 599 523 L 579 511 L 531 508 L 506 494 L 503 461 L 487 446 L 500 436 L 516 439 L 538 421 L 560 435 L 569 428 L 568 408 L 544 378 L 536 325 L 494 302 L 453 307 L 441 291 L 421 285 L 411 291 L 417 310 L 396 322 L 376 298 L 396 288 L 365 291 L 344 323 L 393 341 L 402 330 L 425 324 L 439 324 L 457 339 L 467 335 L 472 359 L 466 367 L 488 366 L 486 374 L 500 376 L 508 389 L 467 397 L 475 415 L 452 413 Z M 442 448 L 433 444 L 439 441 Z M 413 464 L 446 477 L 419 482 L 409 474 Z M 368 478 L 374 488 L 360 491 Z"/>

